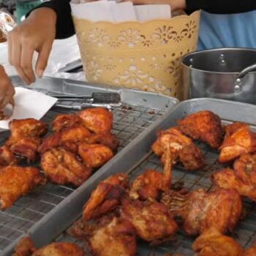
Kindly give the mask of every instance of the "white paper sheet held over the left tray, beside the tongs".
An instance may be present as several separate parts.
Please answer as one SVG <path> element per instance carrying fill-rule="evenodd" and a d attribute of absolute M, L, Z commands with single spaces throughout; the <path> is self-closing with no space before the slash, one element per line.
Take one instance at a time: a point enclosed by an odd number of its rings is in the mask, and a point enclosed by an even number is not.
<path fill-rule="evenodd" d="M 57 99 L 38 91 L 15 88 L 15 106 L 8 120 L 0 121 L 0 131 L 9 129 L 13 119 L 35 118 L 39 120 L 57 102 Z"/>

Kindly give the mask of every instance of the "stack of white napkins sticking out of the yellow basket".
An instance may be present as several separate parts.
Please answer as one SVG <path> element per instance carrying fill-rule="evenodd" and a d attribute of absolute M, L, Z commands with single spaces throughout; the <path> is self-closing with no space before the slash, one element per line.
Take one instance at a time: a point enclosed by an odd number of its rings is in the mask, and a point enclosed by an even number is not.
<path fill-rule="evenodd" d="M 76 18 L 96 21 L 147 21 L 154 19 L 170 19 L 171 10 L 168 4 L 146 4 L 134 6 L 132 2 L 116 3 L 116 1 L 86 0 L 71 1 L 72 15 Z"/>

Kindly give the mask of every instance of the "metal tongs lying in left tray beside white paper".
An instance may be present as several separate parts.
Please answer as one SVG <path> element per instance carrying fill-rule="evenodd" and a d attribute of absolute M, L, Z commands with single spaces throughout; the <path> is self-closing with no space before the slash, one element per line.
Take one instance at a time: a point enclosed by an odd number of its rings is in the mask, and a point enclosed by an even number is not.
<path fill-rule="evenodd" d="M 91 95 L 50 95 L 56 97 L 56 107 L 72 110 L 82 110 L 90 107 L 118 107 L 121 106 L 120 94 L 116 92 L 94 92 Z M 64 105 L 59 102 L 78 102 L 79 105 Z"/>

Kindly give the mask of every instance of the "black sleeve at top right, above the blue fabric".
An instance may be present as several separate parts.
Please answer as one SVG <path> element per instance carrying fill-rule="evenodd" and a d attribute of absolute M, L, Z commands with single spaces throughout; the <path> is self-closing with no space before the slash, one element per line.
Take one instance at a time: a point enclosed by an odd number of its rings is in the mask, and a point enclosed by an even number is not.
<path fill-rule="evenodd" d="M 186 0 L 187 12 L 202 9 L 216 14 L 231 14 L 256 10 L 256 0 Z"/>

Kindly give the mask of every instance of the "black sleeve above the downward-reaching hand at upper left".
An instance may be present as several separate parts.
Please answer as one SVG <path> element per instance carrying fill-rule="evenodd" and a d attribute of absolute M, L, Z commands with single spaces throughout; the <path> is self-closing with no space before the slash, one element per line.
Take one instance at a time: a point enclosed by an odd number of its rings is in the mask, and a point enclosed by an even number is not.
<path fill-rule="evenodd" d="M 47 1 L 37 7 L 49 7 L 56 12 L 56 39 L 64 39 L 75 34 L 69 1 L 71 0 L 52 0 Z"/>

